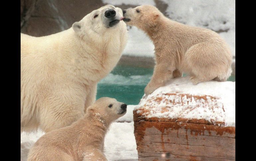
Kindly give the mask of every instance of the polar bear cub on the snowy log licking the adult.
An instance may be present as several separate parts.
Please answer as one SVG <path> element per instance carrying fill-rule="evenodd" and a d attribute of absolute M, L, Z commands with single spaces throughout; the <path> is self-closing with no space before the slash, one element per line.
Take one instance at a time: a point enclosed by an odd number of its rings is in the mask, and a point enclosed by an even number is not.
<path fill-rule="evenodd" d="M 156 65 L 145 94 L 182 72 L 191 76 L 193 84 L 226 81 L 231 75 L 231 51 L 217 33 L 172 21 L 154 6 L 142 5 L 123 13 L 123 21 L 146 32 L 155 45 Z"/>

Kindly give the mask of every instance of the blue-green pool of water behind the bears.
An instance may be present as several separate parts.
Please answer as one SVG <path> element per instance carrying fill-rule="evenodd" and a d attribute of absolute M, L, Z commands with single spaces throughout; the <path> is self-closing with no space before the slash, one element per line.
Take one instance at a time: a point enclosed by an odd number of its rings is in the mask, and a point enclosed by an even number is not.
<path fill-rule="evenodd" d="M 153 68 L 117 65 L 98 83 L 96 99 L 112 97 L 127 105 L 137 105 L 152 74 Z M 228 81 L 234 82 L 235 76 L 230 76 Z"/>

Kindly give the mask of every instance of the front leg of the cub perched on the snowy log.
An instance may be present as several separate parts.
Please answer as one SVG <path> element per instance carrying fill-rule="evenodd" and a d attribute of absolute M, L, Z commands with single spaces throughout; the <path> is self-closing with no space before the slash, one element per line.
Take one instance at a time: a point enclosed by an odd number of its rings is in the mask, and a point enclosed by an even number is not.
<path fill-rule="evenodd" d="M 171 63 L 157 63 L 154 68 L 153 76 L 144 89 L 144 93 L 149 95 L 157 88 L 164 86 L 167 81 L 173 78 L 173 71 L 175 71 L 175 67 Z"/>

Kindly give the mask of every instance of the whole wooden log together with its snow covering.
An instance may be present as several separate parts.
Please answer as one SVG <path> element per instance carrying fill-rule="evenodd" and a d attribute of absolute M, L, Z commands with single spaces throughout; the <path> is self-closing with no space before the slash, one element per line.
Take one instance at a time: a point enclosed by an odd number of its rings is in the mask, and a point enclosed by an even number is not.
<path fill-rule="evenodd" d="M 235 160 L 235 82 L 175 78 L 133 115 L 139 161 Z"/>

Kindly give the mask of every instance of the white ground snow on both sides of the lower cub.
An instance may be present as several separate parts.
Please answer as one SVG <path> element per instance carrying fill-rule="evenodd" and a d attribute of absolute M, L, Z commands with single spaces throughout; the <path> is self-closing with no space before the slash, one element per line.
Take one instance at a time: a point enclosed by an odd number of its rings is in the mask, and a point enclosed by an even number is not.
<path fill-rule="evenodd" d="M 113 122 L 109 127 L 104 141 L 104 154 L 108 161 L 138 160 L 137 146 L 133 133 L 134 107 L 134 105 L 128 105 L 126 114 Z M 21 161 L 27 160 L 29 149 L 44 134 L 41 130 L 31 133 L 21 133 Z"/>

